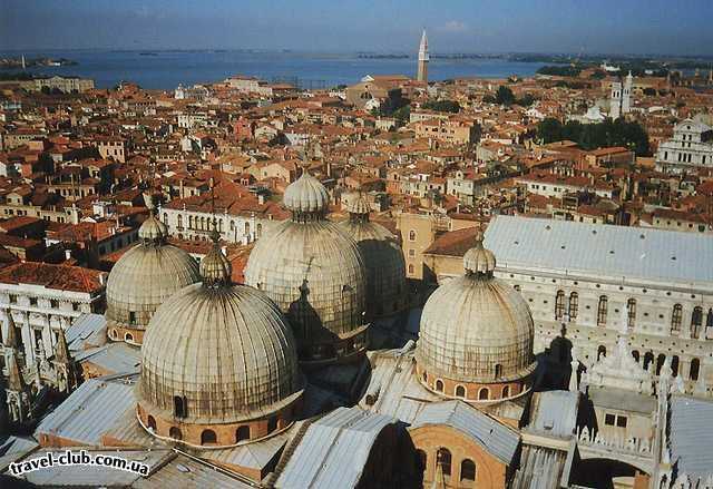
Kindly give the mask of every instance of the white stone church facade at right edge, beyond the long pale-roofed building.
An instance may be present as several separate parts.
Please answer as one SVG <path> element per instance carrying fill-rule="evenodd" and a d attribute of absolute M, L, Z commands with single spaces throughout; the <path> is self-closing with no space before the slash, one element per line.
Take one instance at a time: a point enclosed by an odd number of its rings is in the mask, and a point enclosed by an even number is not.
<path fill-rule="evenodd" d="M 676 124 L 673 139 L 658 145 L 656 169 L 680 173 L 713 168 L 713 128 L 694 119 Z"/>

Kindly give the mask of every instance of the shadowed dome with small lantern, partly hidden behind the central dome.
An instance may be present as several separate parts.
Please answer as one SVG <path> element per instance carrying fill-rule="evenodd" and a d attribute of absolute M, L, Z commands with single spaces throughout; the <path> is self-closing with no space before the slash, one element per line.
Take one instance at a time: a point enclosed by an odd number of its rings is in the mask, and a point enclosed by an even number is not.
<path fill-rule="evenodd" d="M 346 207 L 349 219 L 340 223 L 358 244 L 367 266 L 367 313 L 390 315 L 406 306 L 406 263 L 393 234 L 369 221 L 369 202 L 359 194 Z"/>

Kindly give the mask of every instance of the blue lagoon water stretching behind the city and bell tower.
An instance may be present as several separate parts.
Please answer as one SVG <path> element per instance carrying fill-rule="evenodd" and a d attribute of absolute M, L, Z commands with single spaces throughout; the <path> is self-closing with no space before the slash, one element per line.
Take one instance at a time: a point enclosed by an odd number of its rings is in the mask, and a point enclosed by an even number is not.
<path fill-rule="evenodd" d="M 156 56 L 141 56 L 155 52 Z M 0 56 L 19 56 L 7 52 Z M 42 51 L 25 52 L 27 58 L 47 56 L 77 61 L 77 66 L 40 67 L 29 71 L 43 75 L 76 75 L 91 78 L 98 88 L 116 86 L 121 80 L 144 88 L 174 89 L 213 82 L 231 75 L 248 75 L 267 81 L 297 81 L 304 88 L 354 84 L 364 75 L 401 74 L 414 76 L 416 59 L 361 59 L 356 55 L 245 51 Z M 512 62 L 502 59 L 431 59 L 429 79 L 456 77 L 496 78 L 530 76 L 539 62 Z"/>

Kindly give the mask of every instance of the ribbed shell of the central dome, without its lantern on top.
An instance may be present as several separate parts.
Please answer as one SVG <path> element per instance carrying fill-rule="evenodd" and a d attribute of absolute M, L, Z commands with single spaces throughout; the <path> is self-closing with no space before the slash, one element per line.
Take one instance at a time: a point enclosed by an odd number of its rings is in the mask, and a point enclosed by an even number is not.
<path fill-rule="evenodd" d="M 367 276 L 359 247 L 329 221 L 281 223 L 255 244 L 245 282 L 287 313 L 301 351 L 364 325 Z"/>

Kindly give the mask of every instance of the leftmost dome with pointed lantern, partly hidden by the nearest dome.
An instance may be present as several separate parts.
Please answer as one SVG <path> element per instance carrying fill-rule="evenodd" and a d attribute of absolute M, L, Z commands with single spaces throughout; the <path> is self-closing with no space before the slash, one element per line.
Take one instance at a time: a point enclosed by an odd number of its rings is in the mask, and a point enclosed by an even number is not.
<path fill-rule="evenodd" d="M 107 331 L 113 340 L 141 344 L 156 309 L 201 278 L 191 255 L 166 242 L 168 232 L 152 211 L 138 229 L 139 243 L 111 268 L 107 281 Z"/>

